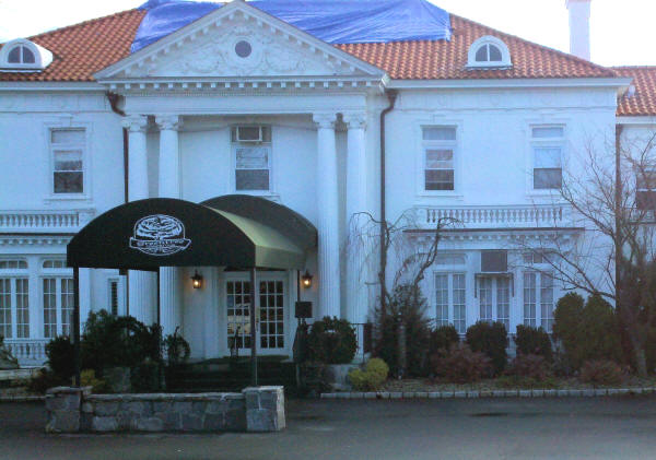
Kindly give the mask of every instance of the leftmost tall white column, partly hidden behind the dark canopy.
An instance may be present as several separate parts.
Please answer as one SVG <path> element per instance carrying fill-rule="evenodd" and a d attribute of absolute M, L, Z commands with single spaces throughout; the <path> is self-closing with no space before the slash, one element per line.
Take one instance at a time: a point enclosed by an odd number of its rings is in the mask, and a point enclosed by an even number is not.
<path fill-rule="evenodd" d="M 144 200 L 149 197 L 145 149 L 148 118 L 132 115 L 124 118 L 122 126 L 129 130 L 128 199 L 129 201 Z M 151 325 L 156 319 L 153 315 L 156 302 L 152 291 L 153 275 L 148 272 L 130 271 L 128 279 L 130 316 Z"/>

